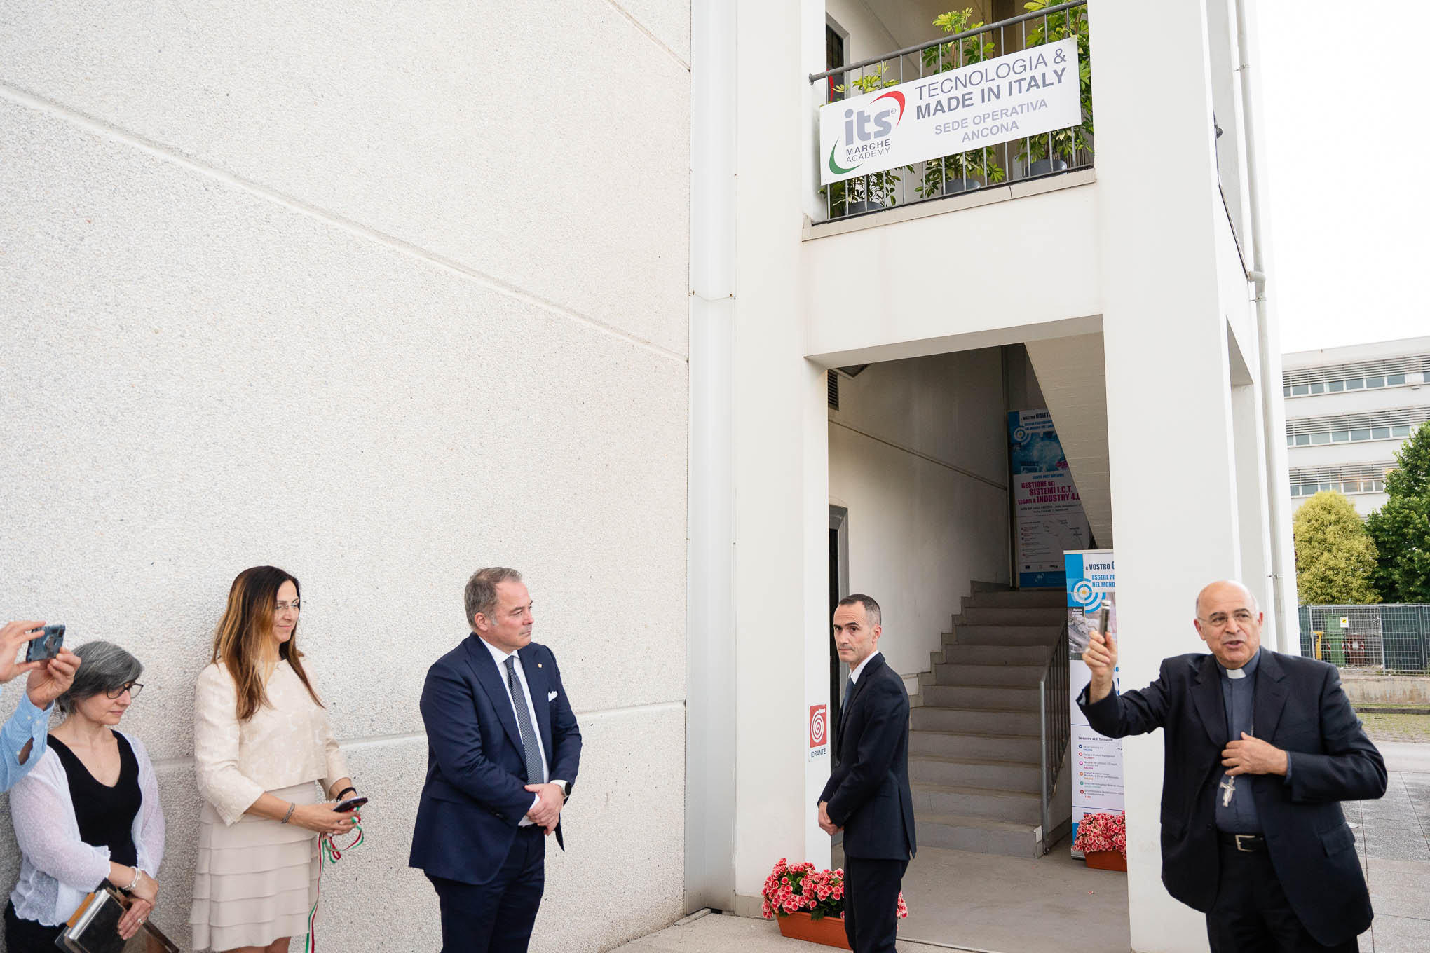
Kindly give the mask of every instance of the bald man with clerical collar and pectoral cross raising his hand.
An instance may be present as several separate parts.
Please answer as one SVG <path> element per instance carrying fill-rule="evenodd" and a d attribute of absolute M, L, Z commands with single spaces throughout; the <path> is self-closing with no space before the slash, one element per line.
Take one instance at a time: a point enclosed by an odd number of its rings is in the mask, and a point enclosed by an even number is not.
<path fill-rule="evenodd" d="M 1211 654 L 1165 659 L 1113 692 L 1117 640 L 1090 633 L 1078 697 L 1108 737 L 1163 729 L 1163 883 L 1207 914 L 1213 953 L 1350 953 L 1370 894 L 1340 802 L 1386 793 L 1386 763 L 1334 666 L 1261 649 L 1261 612 L 1237 582 L 1197 596 Z"/>

